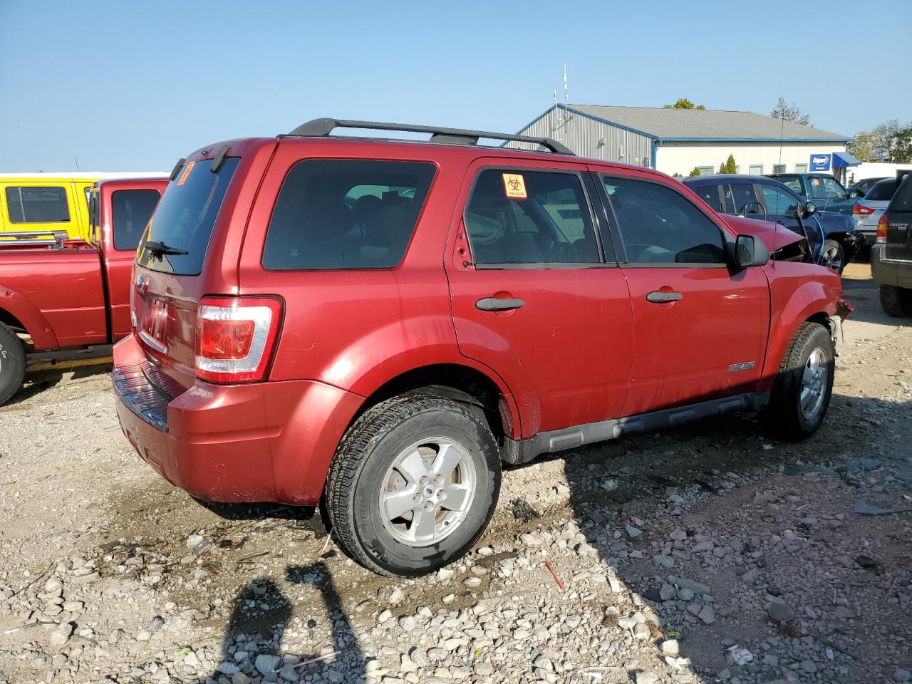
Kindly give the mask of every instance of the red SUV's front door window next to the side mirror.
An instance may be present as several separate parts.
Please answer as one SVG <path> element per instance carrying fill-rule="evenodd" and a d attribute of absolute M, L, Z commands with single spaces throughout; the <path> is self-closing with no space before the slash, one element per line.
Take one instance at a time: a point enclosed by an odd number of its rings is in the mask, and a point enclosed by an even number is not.
<path fill-rule="evenodd" d="M 604 178 L 631 264 L 724 264 L 722 233 L 686 197 L 648 181 Z"/>

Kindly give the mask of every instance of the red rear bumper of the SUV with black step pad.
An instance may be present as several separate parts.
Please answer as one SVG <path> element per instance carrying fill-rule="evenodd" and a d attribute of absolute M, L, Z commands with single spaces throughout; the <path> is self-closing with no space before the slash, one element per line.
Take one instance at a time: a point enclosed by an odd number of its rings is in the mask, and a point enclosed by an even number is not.
<path fill-rule="evenodd" d="M 168 482 L 212 502 L 318 503 L 329 461 L 364 400 L 309 380 L 197 380 L 171 398 L 149 370 L 132 335 L 114 347 L 120 428 Z"/>

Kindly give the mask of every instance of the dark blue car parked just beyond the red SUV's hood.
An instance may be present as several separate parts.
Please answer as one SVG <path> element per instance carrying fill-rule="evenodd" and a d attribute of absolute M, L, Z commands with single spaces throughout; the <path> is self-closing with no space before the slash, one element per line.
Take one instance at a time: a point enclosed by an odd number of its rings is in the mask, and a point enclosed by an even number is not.
<path fill-rule="evenodd" d="M 782 223 L 805 235 L 814 261 L 836 273 L 841 274 L 855 254 L 855 243 L 849 237 L 853 228 L 851 216 L 819 211 L 814 202 L 805 202 L 772 178 L 716 174 L 690 176 L 682 182 L 717 212 Z"/>

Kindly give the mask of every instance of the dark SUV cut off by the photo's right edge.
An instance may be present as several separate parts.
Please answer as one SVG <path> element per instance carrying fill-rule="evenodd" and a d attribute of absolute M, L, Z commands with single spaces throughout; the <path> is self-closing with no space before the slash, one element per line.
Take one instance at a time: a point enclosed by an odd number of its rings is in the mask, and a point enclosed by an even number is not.
<path fill-rule="evenodd" d="M 912 316 L 912 174 L 896 177 L 902 182 L 877 223 L 871 273 L 886 314 Z"/>

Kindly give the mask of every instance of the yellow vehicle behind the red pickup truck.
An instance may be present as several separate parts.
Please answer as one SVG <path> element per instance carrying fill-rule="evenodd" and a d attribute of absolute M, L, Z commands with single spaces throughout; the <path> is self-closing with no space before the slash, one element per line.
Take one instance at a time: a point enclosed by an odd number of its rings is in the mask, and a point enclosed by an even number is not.
<path fill-rule="evenodd" d="M 0 173 L 0 233 L 64 232 L 89 237 L 88 195 L 109 178 L 166 178 L 166 173 Z"/>

